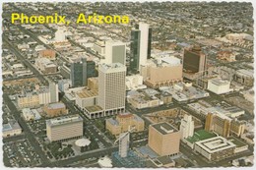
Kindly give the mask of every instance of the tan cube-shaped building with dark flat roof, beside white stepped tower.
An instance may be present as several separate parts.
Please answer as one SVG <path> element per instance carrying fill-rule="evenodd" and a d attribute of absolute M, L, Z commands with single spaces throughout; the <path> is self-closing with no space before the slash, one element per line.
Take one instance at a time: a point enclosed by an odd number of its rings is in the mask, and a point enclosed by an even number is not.
<path fill-rule="evenodd" d="M 150 125 L 149 146 L 160 156 L 179 152 L 180 132 L 168 123 Z"/>

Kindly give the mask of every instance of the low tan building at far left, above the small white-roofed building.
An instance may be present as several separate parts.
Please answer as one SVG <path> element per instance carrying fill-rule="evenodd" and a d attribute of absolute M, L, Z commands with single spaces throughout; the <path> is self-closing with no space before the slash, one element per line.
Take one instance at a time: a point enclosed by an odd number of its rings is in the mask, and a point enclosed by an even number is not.
<path fill-rule="evenodd" d="M 18 95 L 17 104 L 20 108 L 39 106 L 39 95 L 36 92 Z"/>

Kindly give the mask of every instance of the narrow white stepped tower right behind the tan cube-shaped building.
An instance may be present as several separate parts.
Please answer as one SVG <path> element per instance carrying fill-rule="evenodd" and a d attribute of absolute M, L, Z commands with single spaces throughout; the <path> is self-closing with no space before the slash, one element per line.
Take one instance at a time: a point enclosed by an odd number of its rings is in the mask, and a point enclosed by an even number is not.
<path fill-rule="evenodd" d="M 181 120 L 180 124 L 180 133 L 181 139 L 186 139 L 188 137 L 192 137 L 194 135 L 194 121 L 192 120 L 191 115 L 184 115 L 184 118 Z"/>

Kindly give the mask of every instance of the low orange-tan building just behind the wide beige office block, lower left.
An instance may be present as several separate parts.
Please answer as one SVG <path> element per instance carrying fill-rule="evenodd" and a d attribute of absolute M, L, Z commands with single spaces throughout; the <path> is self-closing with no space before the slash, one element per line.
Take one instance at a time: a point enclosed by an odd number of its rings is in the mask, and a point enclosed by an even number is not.
<path fill-rule="evenodd" d="M 68 114 L 68 109 L 66 109 L 65 104 L 62 102 L 46 104 L 43 107 L 43 111 L 48 117 Z"/>

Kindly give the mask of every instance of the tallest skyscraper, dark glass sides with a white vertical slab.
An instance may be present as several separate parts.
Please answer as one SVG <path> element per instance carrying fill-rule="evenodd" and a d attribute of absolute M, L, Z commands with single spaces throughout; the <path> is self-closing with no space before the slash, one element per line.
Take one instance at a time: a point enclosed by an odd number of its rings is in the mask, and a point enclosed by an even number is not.
<path fill-rule="evenodd" d="M 140 65 L 145 65 L 151 58 L 152 28 L 140 23 L 131 31 L 131 71 L 139 71 Z"/>

